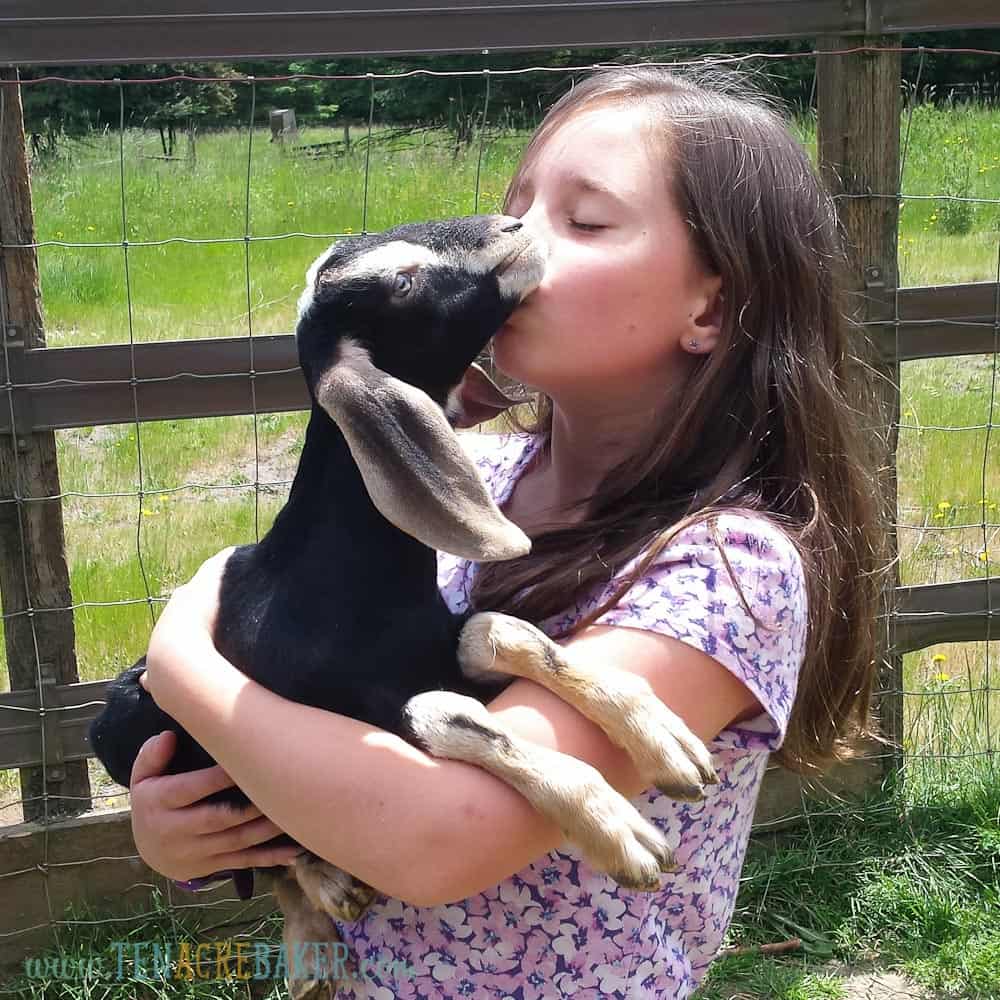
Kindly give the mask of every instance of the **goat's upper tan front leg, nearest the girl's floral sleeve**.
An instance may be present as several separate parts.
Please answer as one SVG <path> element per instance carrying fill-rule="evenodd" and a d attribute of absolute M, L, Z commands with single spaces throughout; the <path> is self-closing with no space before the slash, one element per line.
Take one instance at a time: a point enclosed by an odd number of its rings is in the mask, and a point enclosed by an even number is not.
<path fill-rule="evenodd" d="M 473 680 L 513 674 L 557 694 L 607 734 L 650 784 L 673 799 L 698 802 L 718 782 L 705 744 L 656 697 L 642 677 L 597 673 L 528 622 L 487 612 L 473 615 L 459 639 L 462 673 Z"/>

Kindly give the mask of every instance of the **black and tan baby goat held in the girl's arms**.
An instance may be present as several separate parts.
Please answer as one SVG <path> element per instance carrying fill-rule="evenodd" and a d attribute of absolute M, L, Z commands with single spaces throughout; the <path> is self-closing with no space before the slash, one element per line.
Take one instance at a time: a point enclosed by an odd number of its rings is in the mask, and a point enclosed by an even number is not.
<path fill-rule="evenodd" d="M 314 262 L 296 329 L 312 398 L 305 445 L 273 527 L 226 564 L 214 639 L 285 698 L 486 768 L 558 823 L 593 866 L 652 889 L 674 866 L 660 831 L 594 768 L 506 731 L 483 702 L 512 675 L 535 680 L 675 798 L 700 799 L 716 780 L 705 747 L 645 681 L 585 672 L 510 616 L 455 615 L 437 588 L 435 549 L 488 561 L 530 548 L 486 493 L 449 419 L 470 422 L 463 377 L 540 282 L 544 253 L 519 220 L 473 216 L 338 242 Z M 122 785 L 143 742 L 165 728 L 178 735 L 170 773 L 214 763 L 139 685 L 144 669 L 140 660 L 108 685 L 90 730 Z M 249 800 L 229 788 L 206 801 Z M 289 949 L 330 939 L 327 915 L 355 920 L 374 894 L 308 853 L 275 873 Z M 241 895 L 251 879 L 237 879 Z M 323 988 L 304 976 L 290 983 L 296 998 Z"/>

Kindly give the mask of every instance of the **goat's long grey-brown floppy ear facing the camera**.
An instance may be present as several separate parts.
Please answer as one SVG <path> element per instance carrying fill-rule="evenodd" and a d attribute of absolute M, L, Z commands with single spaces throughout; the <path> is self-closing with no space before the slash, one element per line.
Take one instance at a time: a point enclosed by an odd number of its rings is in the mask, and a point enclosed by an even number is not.
<path fill-rule="evenodd" d="M 531 541 L 500 513 L 426 393 L 345 345 L 319 379 L 316 399 L 344 435 L 372 503 L 401 531 L 478 562 L 530 551 Z"/>

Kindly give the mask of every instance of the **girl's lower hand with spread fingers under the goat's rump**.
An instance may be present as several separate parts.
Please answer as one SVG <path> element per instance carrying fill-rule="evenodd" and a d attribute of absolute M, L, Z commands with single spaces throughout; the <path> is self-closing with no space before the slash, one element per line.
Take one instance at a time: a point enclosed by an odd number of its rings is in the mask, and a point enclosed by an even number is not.
<path fill-rule="evenodd" d="M 176 746 L 172 731 L 154 736 L 142 745 L 132 767 L 132 835 L 142 860 L 179 881 L 227 868 L 291 864 L 302 852 L 297 844 L 259 846 L 284 831 L 256 806 L 237 810 L 222 803 L 197 804 L 234 784 L 218 764 L 164 774 Z"/>

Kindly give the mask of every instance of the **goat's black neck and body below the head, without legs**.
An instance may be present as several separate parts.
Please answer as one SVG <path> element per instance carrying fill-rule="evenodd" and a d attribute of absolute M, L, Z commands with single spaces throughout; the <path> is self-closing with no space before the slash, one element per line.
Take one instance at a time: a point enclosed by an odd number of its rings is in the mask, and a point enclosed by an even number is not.
<path fill-rule="evenodd" d="M 372 506 L 343 435 L 314 406 L 288 502 L 270 532 L 226 564 L 219 652 L 284 698 L 407 738 L 402 709 L 413 695 L 447 689 L 482 700 L 498 690 L 459 670 L 467 617 L 441 598 L 434 551 Z M 139 685 L 143 669 L 140 660 L 109 684 L 91 728 L 108 773 L 127 786 L 139 748 L 164 729 L 178 734 L 170 773 L 214 764 Z M 249 800 L 234 787 L 206 801 Z"/>

